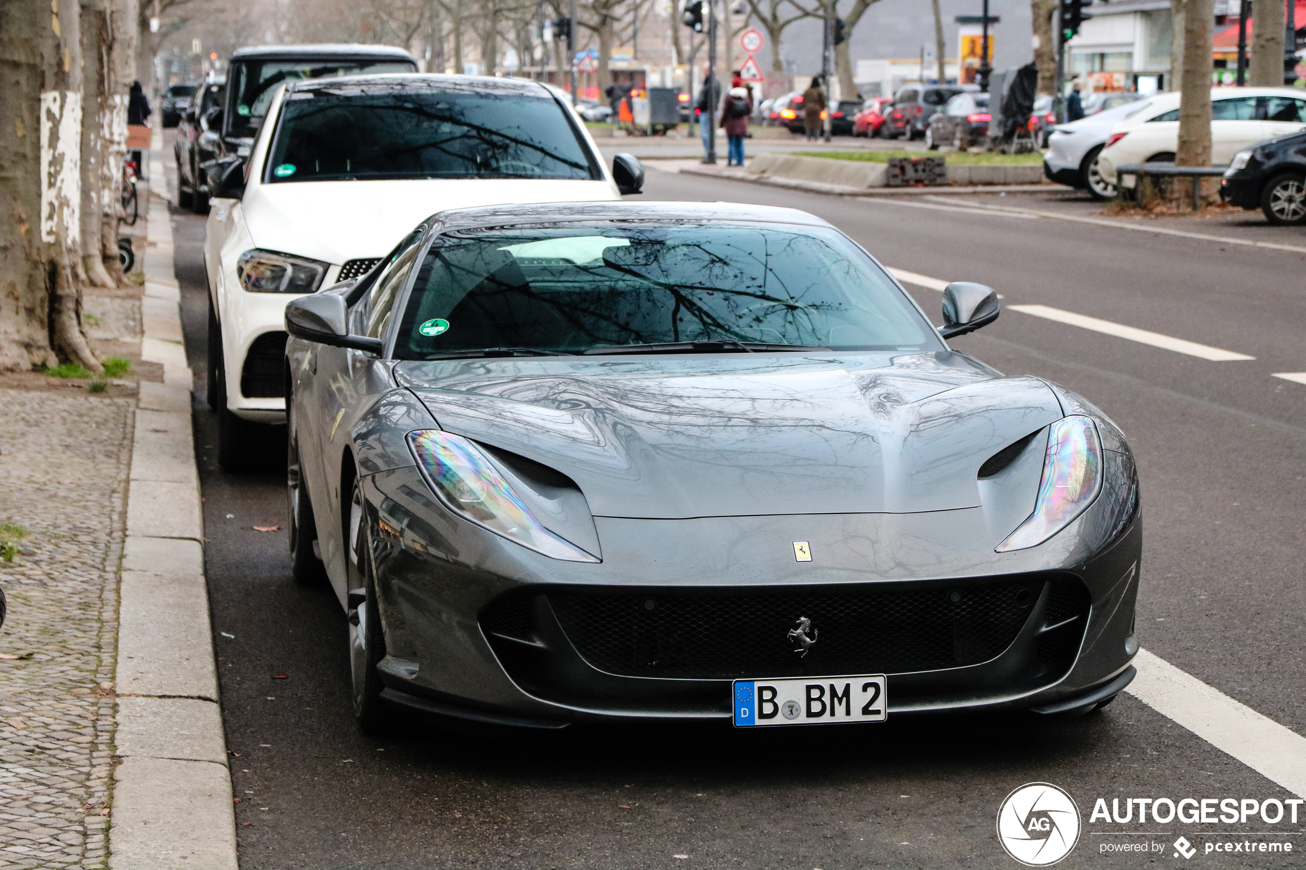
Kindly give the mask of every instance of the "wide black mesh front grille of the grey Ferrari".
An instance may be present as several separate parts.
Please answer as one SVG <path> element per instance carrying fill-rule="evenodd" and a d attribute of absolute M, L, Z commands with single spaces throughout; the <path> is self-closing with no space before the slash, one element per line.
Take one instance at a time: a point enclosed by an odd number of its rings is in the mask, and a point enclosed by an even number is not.
<path fill-rule="evenodd" d="M 1043 578 L 930 590 L 550 592 L 549 601 L 576 651 L 601 670 L 727 680 L 980 664 L 1015 640 L 1042 584 Z M 486 627 L 520 622 L 521 601 L 498 603 Z M 509 617 L 511 609 L 520 616 Z M 811 621 L 808 637 L 816 633 L 804 657 L 788 638 L 799 617 Z"/>

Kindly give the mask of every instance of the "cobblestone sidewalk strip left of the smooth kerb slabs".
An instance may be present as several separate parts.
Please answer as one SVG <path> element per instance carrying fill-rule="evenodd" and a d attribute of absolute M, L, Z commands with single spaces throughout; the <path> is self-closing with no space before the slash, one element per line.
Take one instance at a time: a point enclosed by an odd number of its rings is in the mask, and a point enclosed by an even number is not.
<path fill-rule="evenodd" d="M 0 867 L 103 867 L 136 402 L 0 390 Z M 0 536 L 5 530 L 0 528 Z"/>

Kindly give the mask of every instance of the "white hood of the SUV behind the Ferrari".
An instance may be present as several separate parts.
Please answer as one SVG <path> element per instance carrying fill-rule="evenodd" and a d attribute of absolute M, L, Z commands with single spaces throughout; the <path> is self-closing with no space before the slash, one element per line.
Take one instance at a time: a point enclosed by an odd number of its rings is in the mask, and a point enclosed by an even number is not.
<path fill-rule="evenodd" d="M 252 187 L 242 211 L 256 247 L 342 265 L 384 257 L 418 222 L 447 209 L 619 198 L 607 181 L 299 181 Z"/>

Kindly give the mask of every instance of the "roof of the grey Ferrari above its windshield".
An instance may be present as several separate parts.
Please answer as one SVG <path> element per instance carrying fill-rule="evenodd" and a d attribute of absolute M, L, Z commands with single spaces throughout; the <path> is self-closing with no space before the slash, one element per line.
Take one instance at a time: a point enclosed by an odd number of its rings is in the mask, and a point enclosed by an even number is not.
<path fill-rule="evenodd" d="M 641 223 L 658 220 L 720 220 L 727 223 L 788 223 L 828 227 L 828 222 L 798 209 L 735 202 L 542 202 L 438 211 L 427 222 L 432 232 L 535 223 Z"/>

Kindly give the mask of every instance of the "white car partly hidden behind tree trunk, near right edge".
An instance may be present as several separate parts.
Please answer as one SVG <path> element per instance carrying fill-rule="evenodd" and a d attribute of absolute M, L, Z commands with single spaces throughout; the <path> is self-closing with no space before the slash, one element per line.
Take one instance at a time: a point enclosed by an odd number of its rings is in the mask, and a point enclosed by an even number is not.
<path fill-rule="evenodd" d="M 1296 87 L 1216 87 L 1211 91 L 1211 162 L 1228 164 L 1256 142 L 1306 129 L 1306 94 Z M 1179 94 L 1162 94 L 1147 111 L 1111 130 L 1097 160 L 1102 179 L 1115 184 L 1115 168 L 1173 160 L 1179 141 Z"/>

